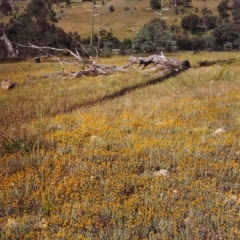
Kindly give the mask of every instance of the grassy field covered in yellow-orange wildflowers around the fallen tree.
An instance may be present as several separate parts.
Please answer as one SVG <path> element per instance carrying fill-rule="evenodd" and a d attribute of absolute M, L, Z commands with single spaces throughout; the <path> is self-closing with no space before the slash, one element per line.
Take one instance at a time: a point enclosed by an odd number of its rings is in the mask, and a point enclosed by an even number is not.
<path fill-rule="evenodd" d="M 0 65 L 18 83 L 0 91 L 1 239 L 239 239 L 239 54 L 168 57 L 192 68 Z"/>

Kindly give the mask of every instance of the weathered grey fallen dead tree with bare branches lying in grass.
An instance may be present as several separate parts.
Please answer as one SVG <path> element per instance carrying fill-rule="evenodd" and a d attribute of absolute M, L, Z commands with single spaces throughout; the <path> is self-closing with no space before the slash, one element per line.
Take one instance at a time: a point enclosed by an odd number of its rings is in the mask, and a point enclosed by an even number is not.
<path fill-rule="evenodd" d="M 57 72 L 56 75 L 59 77 L 66 77 L 69 76 L 71 78 L 77 78 L 77 77 L 82 77 L 82 76 L 99 76 L 99 75 L 109 75 L 112 73 L 116 73 L 116 72 L 127 72 L 128 68 L 131 67 L 133 64 L 139 64 L 139 67 L 141 67 L 143 65 L 143 67 L 141 68 L 141 70 L 145 69 L 148 65 L 152 64 L 152 67 L 155 67 L 156 69 L 164 69 L 164 70 L 174 70 L 174 71 L 179 71 L 179 70 L 183 70 L 183 69 L 187 69 L 190 66 L 190 63 L 188 60 L 185 61 L 179 61 L 177 59 L 170 59 L 170 58 L 166 58 L 164 56 L 164 54 L 161 52 L 159 55 L 150 55 L 149 57 L 134 57 L 134 56 L 130 56 L 129 57 L 129 61 L 126 65 L 122 66 L 122 67 L 116 67 L 116 66 L 102 66 L 102 65 L 98 65 L 93 59 L 92 57 L 87 53 L 87 51 L 84 49 L 84 47 L 80 44 L 80 46 L 82 47 L 82 49 L 88 54 L 89 59 L 84 59 L 83 57 L 80 56 L 79 52 L 77 49 L 75 49 L 75 52 L 69 50 L 69 49 L 59 49 L 59 48 L 53 48 L 53 47 L 48 47 L 48 46 L 43 46 L 43 47 L 39 47 L 36 45 L 33 45 L 31 43 L 29 43 L 29 45 L 20 45 L 15 43 L 17 46 L 20 47 L 29 47 L 29 48 L 33 48 L 33 49 L 37 49 L 40 52 L 44 53 L 44 57 L 51 57 L 54 60 L 57 60 L 60 62 L 61 66 L 62 66 L 62 72 Z M 64 70 L 64 66 L 63 63 L 66 63 L 66 60 L 62 60 L 60 57 L 55 56 L 53 54 L 49 54 L 49 50 L 51 51 L 57 51 L 57 52 L 68 52 L 70 55 L 72 55 L 78 62 L 80 62 L 81 64 L 83 64 L 83 68 L 87 67 L 87 69 L 82 69 L 79 70 L 77 72 L 74 73 L 67 73 Z M 35 60 L 36 62 L 40 62 L 40 58 L 41 57 L 36 57 L 33 60 Z M 68 63 L 72 63 L 69 62 Z M 55 76 L 56 76 L 55 75 Z M 48 77 L 49 75 L 45 75 L 45 77 Z M 51 76 L 51 75 L 50 75 Z M 49 76 L 49 77 L 50 77 Z"/>

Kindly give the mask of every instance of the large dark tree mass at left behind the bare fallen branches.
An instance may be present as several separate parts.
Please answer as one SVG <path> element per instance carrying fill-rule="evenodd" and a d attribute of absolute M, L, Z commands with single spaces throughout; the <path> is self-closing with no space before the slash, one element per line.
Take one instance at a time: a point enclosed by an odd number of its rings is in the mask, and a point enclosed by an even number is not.
<path fill-rule="evenodd" d="M 27 11 L 18 18 L 12 18 L 9 24 L 4 26 L 3 32 L 4 36 L 15 43 L 28 44 L 30 42 L 42 46 L 75 48 L 76 41 L 80 41 L 80 36 L 77 33 L 65 33 L 54 25 L 56 21 L 51 2 L 32 0 L 27 6 Z M 2 38 L 0 40 L 3 41 Z M 34 55 L 35 52 L 36 50 L 31 48 L 21 50 L 22 55 Z"/>

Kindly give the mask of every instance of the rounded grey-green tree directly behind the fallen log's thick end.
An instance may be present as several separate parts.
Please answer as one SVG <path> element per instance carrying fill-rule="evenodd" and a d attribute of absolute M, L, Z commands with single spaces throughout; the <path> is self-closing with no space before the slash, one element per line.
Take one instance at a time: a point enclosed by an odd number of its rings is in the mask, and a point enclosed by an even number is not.
<path fill-rule="evenodd" d="M 154 18 L 133 39 L 133 51 L 137 53 L 171 52 L 176 49 L 172 31 L 165 21 Z"/>

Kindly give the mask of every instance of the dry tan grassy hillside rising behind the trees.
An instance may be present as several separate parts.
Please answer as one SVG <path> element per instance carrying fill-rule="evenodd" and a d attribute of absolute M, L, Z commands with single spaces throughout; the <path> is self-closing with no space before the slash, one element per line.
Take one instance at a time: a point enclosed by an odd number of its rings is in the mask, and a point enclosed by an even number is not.
<path fill-rule="evenodd" d="M 201 10 L 204 7 L 211 9 L 214 15 L 217 14 L 217 5 L 221 0 L 202 1 L 192 0 L 192 7 L 181 11 L 182 6 L 178 6 L 179 14 L 175 14 L 174 5 L 172 1 L 164 0 L 164 8 L 169 8 L 168 11 L 163 11 L 163 17 L 171 26 L 172 24 L 180 25 L 182 17 L 191 13 L 197 13 L 201 16 Z M 17 14 L 25 12 L 25 6 L 29 1 L 17 1 L 15 4 L 19 8 Z M 150 7 L 150 0 L 106 0 L 97 1 L 99 8 L 95 8 L 95 13 L 100 14 L 94 18 L 94 32 L 97 34 L 98 30 L 106 30 L 112 32 L 114 36 L 120 40 L 124 38 L 133 38 L 135 34 L 154 17 L 160 17 L 155 14 L 159 12 L 152 10 Z M 115 11 L 109 12 L 110 6 L 113 6 Z M 124 9 L 128 7 L 128 11 Z M 88 1 L 80 2 L 73 1 L 66 6 L 65 3 L 54 5 L 54 11 L 57 13 L 59 23 L 57 26 L 62 27 L 67 33 L 77 31 L 82 38 L 86 38 L 91 34 L 91 12 L 92 3 Z M 0 16 L 1 21 L 7 23 L 11 16 Z"/>

